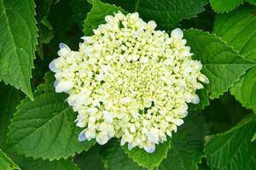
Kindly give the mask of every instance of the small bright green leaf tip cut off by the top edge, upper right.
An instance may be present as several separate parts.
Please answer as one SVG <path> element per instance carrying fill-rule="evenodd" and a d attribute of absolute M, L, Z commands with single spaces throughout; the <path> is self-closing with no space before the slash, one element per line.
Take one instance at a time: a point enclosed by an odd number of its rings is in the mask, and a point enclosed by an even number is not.
<path fill-rule="evenodd" d="M 224 13 L 238 7 L 244 0 L 210 0 L 212 8 L 217 13 Z"/>

